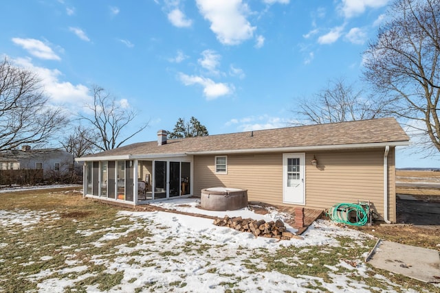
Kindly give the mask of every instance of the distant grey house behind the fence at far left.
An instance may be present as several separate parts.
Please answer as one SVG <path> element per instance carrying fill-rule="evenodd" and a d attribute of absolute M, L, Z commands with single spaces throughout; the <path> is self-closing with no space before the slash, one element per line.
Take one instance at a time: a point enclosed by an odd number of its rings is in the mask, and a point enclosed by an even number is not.
<path fill-rule="evenodd" d="M 21 150 L 0 152 L 0 170 L 43 169 L 45 177 L 54 172 L 64 174 L 72 169 L 72 154 L 56 148 L 32 150 L 23 145 Z"/>

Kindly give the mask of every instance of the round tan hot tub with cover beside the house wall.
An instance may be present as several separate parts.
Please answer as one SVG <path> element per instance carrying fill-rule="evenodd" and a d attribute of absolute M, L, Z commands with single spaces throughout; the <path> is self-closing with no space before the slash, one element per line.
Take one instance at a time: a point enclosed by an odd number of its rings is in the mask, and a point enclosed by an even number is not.
<path fill-rule="evenodd" d="M 248 206 L 248 189 L 210 187 L 201 189 L 202 209 L 210 211 L 233 211 Z"/>

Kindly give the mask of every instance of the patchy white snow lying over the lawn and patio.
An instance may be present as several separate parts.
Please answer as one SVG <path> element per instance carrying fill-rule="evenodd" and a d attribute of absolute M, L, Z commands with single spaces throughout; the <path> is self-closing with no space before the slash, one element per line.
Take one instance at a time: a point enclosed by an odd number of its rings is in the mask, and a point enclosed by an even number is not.
<path fill-rule="evenodd" d="M 197 199 L 188 198 L 155 204 L 167 209 L 219 217 L 240 215 L 242 218 L 268 221 L 278 218 L 283 220 L 287 216 L 276 211 L 260 215 L 250 209 L 204 211 L 197 208 L 198 203 Z M 20 217 L 36 219 L 38 216 L 35 213 L 25 210 L 8 213 L 0 211 L 0 223 L 15 224 L 16 219 Z M 350 279 L 353 276 L 366 277 L 366 270 L 369 269 L 363 262 L 355 267 L 344 261 L 331 266 L 331 281 L 307 275 L 290 277 L 266 269 L 267 263 L 263 257 L 274 255 L 276 250 L 283 246 L 304 247 L 304 252 L 307 253 L 308 248 L 305 246 L 338 246 L 335 239 L 337 236 L 347 236 L 353 240 L 371 237 L 340 227 L 333 222 L 318 220 L 303 234 L 303 240 L 279 241 L 214 226 L 210 219 L 178 213 L 120 211 L 115 221 L 123 218 L 129 218 L 132 222 L 128 230 L 118 232 L 111 228 L 98 227 L 97 230 L 104 229 L 105 234 L 97 241 L 90 242 L 90 246 L 101 247 L 111 239 L 124 237 L 130 231 L 148 231 L 149 235 L 115 246 L 115 253 L 94 255 L 91 258 L 91 262 L 96 265 L 104 265 L 109 274 L 123 272 L 120 284 L 106 292 L 169 292 L 170 289 L 173 292 L 319 292 L 320 290 L 311 289 L 316 286 L 330 292 L 371 292 L 374 289 L 368 288 L 362 281 Z M 288 228 L 294 231 L 292 227 Z M 87 237 L 91 232 L 77 231 L 83 237 Z M 89 248 L 77 248 L 75 252 L 81 249 Z M 72 253 L 72 250 L 69 253 Z M 50 259 L 50 256 L 42 259 Z M 293 266 L 298 260 L 296 257 L 290 257 L 283 261 Z M 65 268 L 41 270 L 37 274 L 27 276 L 26 279 L 38 283 L 39 292 L 63 292 L 69 286 L 89 277 L 94 277 L 94 272 L 88 270 L 83 261 L 76 259 L 75 253 L 66 253 Z M 393 292 L 393 286 L 395 285 L 390 285 L 388 292 Z M 97 285 L 89 285 L 87 292 L 101 290 Z"/>

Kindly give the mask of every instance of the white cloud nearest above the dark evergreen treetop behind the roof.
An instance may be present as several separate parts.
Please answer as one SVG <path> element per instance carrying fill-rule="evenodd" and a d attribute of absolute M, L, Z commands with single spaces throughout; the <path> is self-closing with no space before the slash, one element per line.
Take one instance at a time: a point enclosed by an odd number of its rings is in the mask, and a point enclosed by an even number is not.
<path fill-rule="evenodd" d="M 210 78 L 203 78 L 201 76 L 179 73 L 179 80 L 186 86 L 193 84 L 203 86 L 203 95 L 205 95 L 208 100 L 216 99 L 222 95 L 230 95 L 234 91 L 234 86 L 221 82 L 216 83 Z"/>

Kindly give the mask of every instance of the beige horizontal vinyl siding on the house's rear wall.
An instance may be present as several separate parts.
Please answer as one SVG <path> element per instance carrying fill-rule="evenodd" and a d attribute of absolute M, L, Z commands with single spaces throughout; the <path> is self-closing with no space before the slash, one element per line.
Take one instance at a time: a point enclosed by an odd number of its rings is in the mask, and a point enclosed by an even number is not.
<path fill-rule="evenodd" d="M 340 202 L 370 200 L 384 212 L 384 148 L 306 152 L 305 207 L 329 209 Z M 311 165 L 316 156 L 318 165 Z M 395 222 L 394 148 L 388 154 L 388 220 Z M 283 203 L 283 154 L 228 155 L 228 174 L 215 174 L 214 156 L 194 157 L 194 195 L 208 187 L 248 189 L 252 201 Z"/>

